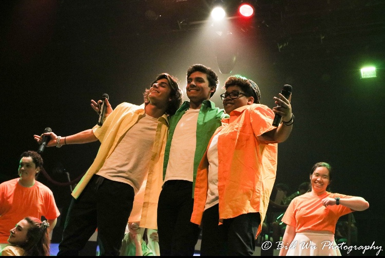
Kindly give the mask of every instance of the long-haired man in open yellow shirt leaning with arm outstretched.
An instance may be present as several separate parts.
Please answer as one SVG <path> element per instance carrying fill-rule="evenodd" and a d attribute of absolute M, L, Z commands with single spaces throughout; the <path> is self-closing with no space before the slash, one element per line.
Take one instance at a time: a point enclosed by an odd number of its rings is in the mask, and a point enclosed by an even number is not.
<path fill-rule="evenodd" d="M 101 255 L 119 255 L 134 195 L 146 176 L 146 209 L 152 205 L 156 212 L 168 115 L 182 103 L 179 85 L 170 75 L 160 74 L 140 106 L 124 102 L 112 111 L 105 101 L 108 116 L 103 125 L 66 137 L 44 134 L 50 136 L 47 146 L 101 142 L 97 157 L 72 192 L 58 256 L 79 255 L 97 228 Z M 41 143 L 41 136 L 34 138 Z"/>

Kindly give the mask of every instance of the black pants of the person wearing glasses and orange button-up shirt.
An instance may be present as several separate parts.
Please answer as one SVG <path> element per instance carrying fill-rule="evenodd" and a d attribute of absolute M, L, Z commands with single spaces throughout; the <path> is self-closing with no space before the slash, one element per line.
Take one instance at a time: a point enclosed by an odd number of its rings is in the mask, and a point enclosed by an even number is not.
<path fill-rule="evenodd" d="M 253 255 L 255 236 L 261 223 L 259 213 L 246 213 L 225 219 L 218 226 L 218 207 L 217 204 L 203 213 L 201 255 Z"/>

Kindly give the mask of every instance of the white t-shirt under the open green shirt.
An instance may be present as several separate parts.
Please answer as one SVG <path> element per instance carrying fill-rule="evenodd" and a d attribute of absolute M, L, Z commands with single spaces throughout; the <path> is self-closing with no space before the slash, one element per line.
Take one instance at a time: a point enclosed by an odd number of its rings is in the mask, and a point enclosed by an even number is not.
<path fill-rule="evenodd" d="M 186 110 L 175 127 L 164 182 L 167 180 L 192 182 L 197 145 L 198 115 L 199 109 Z"/>

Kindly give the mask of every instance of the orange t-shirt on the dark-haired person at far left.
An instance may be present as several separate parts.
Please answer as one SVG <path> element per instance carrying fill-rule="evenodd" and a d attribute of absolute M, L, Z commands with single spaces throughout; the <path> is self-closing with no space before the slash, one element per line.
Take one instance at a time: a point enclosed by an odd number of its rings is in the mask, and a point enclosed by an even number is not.
<path fill-rule="evenodd" d="M 60 215 L 47 186 L 35 181 L 32 187 L 24 187 L 19 179 L 0 184 L 0 243 L 8 243 L 9 230 L 25 217 L 54 220 Z"/>

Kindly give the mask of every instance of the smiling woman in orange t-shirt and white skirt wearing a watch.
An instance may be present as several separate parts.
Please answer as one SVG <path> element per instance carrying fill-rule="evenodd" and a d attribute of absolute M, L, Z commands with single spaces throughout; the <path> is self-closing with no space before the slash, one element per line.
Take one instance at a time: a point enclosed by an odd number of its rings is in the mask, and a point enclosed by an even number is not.
<path fill-rule="evenodd" d="M 282 218 L 287 226 L 279 255 L 341 255 L 334 241 L 338 218 L 365 210 L 369 203 L 362 197 L 326 191 L 331 181 L 331 166 L 316 163 L 310 173 L 312 191 L 294 198 Z"/>

